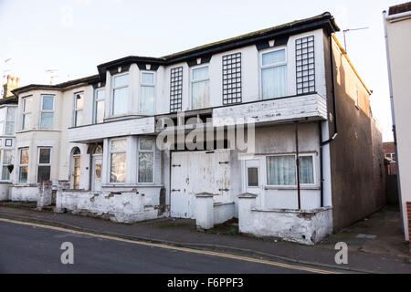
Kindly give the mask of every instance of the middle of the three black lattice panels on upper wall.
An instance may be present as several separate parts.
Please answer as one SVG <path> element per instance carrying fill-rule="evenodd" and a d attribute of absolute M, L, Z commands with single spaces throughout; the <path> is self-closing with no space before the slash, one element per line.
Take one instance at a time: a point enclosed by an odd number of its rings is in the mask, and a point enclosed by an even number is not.
<path fill-rule="evenodd" d="M 223 56 L 223 104 L 241 102 L 241 53 Z"/>

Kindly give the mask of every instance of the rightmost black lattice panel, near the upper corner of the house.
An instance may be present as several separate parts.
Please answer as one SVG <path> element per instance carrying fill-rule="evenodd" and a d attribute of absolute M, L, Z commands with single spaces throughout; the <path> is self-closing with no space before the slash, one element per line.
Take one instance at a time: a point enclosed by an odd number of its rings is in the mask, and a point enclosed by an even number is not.
<path fill-rule="evenodd" d="M 297 94 L 315 92 L 314 36 L 296 39 Z"/>

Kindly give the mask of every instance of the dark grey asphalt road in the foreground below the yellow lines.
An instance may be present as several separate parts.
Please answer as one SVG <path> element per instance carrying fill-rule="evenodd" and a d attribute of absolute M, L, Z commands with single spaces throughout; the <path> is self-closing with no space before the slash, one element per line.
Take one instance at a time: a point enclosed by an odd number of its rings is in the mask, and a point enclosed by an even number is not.
<path fill-rule="evenodd" d="M 63 265 L 60 245 L 74 245 L 74 264 Z M 0 273 L 307 273 L 216 255 L 76 235 L 0 222 Z"/>

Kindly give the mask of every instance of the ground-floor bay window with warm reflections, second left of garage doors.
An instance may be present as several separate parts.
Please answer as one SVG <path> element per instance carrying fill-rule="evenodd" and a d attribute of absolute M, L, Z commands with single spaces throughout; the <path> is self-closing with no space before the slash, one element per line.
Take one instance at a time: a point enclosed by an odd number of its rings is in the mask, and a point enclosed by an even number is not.
<path fill-rule="evenodd" d="M 125 139 L 111 140 L 110 147 L 110 182 L 125 183 L 126 179 L 126 147 Z"/>

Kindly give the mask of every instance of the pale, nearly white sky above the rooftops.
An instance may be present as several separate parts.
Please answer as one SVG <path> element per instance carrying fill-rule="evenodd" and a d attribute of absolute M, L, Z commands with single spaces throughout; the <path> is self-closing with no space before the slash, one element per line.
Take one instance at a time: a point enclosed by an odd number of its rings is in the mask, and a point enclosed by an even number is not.
<path fill-rule="evenodd" d="M 393 141 L 383 10 L 406 0 L 0 0 L 0 73 L 21 85 L 97 74 L 116 58 L 161 57 L 329 11 L 368 89 L 384 141 Z M 342 32 L 337 33 L 343 45 Z M 5 63 L 5 60 L 11 58 Z M 7 71 L 5 71 L 7 70 Z"/>

